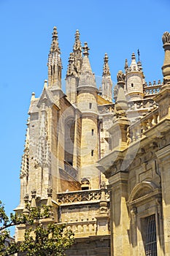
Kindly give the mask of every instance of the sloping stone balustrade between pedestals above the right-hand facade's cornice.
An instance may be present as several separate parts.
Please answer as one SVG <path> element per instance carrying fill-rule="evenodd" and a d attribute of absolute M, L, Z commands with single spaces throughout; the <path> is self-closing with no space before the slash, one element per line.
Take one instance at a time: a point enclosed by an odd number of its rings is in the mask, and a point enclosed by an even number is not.
<path fill-rule="evenodd" d="M 128 127 L 127 143 L 134 143 L 136 140 L 142 138 L 144 132 L 155 126 L 155 124 L 158 124 L 158 122 L 158 108 L 156 108 L 151 113 L 148 113 L 143 118 L 139 118 L 139 120 L 136 120 L 134 124 L 131 124 L 131 126 Z"/>

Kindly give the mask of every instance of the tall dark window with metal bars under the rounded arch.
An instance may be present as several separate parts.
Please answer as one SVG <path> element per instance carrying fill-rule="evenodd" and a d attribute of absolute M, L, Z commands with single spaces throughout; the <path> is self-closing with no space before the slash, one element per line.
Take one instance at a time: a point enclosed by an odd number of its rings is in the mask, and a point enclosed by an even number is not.
<path fill-rule="evenodd" d="M 157 256 L 155 214 L 144 218 L 142 221 L 142 237 L 146 256 Z"/>

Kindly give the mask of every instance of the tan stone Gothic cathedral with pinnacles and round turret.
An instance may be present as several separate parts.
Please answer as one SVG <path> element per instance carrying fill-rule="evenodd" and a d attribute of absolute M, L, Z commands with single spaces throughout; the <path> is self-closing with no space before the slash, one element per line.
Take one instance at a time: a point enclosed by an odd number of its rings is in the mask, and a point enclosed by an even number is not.
<path fill-rule="evenodd" d="M 27 202 L 53 206 L 46 222 L 64 222 L 75 235 L 66 255 L 170 255 L 169 32 L 162 39 L 163 81 L 147 83 L 132 53 L 112 88 L 106 53 L 97 88 L 77 30 L 63 91 L 53 29 L 48 79 L 28 109 L 15 211 Z M 25 228 L 18 225 L 17 241 Z"/>

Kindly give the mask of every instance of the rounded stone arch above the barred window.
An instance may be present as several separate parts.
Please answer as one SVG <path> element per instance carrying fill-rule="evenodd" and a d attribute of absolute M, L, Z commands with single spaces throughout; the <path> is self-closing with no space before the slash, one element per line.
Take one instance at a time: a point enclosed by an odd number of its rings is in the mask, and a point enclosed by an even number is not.
<path fill-rule="evenodd" d="M 132 189 L 131 194 L 128 197 L 128 203 L 142 197 L 144 195 L 148 195 L 154 190 L 158 188 L 153 182 L 151 181 L 142 181 L 141 183 L 137 184 L 134 189 Z"/>

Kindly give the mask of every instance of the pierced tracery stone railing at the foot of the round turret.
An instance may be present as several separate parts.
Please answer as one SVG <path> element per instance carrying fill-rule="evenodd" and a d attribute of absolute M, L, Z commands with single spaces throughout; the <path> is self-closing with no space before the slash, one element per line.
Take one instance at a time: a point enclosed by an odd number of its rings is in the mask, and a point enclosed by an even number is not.
<path fill-rule="evenodd" d="M 105 189 L 107 200 L 109 200 L 109 192 Z M 90 189 L 73 192 L 62 192 L 57 194 L 59 204 L 90 202 L 96 203 L 101 199 L 101 189 Z"/>

